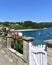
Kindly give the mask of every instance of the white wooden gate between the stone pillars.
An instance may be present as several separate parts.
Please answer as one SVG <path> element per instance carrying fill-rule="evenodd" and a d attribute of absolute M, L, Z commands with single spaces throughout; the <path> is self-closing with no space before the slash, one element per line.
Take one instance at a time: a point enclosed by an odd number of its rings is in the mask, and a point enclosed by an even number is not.
<path fill-rule="evenodd" d="M 47 65 L 46 45 L 33 46 L 29 43 L 29 65 Z"/>

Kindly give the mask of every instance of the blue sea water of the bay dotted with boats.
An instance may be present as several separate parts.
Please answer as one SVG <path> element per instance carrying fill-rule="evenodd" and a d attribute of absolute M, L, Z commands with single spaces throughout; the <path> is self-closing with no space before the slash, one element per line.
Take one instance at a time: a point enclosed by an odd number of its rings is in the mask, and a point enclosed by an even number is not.
<path fill-rule="evenodd" d="M 52 28 L 34 31 L 23 31 L 24 36 L 34 37 L 34 44 L 44 44 L 44 40 L 52 39 Z"/>

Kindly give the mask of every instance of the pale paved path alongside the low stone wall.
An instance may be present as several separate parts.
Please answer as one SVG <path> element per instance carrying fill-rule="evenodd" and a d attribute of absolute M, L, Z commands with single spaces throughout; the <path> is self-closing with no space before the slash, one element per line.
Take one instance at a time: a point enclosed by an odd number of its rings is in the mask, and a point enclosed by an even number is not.
<path fill-rule="evenodd" d="M 0 45 L 0 65 L 17 65 L 10 59 Z"/>

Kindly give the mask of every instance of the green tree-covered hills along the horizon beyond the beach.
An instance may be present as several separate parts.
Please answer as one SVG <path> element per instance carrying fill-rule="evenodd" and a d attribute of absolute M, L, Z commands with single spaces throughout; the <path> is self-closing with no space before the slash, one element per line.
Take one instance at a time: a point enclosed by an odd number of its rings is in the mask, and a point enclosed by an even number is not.
<path fill-rule="evenodd" d="M 52 28 L 52 22 L 36 23 L 32 21 L 24 22 L 0 22 L 3 26 L 13 29 L 35 29 L 35 28 Z"/>

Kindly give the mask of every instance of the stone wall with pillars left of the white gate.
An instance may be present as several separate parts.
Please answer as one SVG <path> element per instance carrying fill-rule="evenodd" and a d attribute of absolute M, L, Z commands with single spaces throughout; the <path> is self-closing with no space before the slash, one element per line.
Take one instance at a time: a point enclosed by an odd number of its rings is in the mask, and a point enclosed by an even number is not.
<path fill-rule="evenodd" d="M 7 54 L 7 56 L 12 59 L 16 65 L 29 65 L 29 42 L 31 42 L 33 39 L 31 37 L 23 37 L 23 54 L 20 54 L 16 50 L 11 48 L 11 38 L 7 37 L 7 40 L 3 40 L 3 37 L 1 38 L 1 44 L 3 47 L 3 50 Z M 4 43 L 4 45 L 3 45 Z M 5 46 L 6 45 L 6 46 Z"/>

